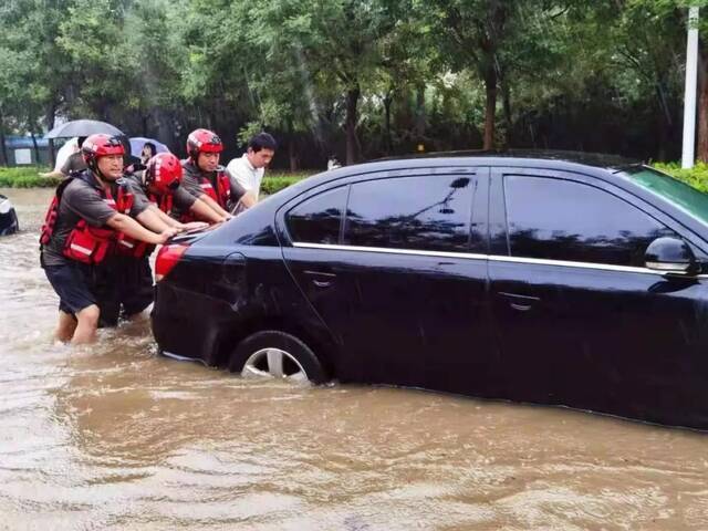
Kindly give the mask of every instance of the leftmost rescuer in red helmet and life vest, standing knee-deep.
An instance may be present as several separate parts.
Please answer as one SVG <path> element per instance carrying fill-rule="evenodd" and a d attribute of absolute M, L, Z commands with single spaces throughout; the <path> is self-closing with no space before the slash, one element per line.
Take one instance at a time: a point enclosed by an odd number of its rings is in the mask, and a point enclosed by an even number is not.
<path fill-rule="evenodd" d="M 41 236 L 41 263 L 60 298 L 55 337 L 73 344 L 95 339 L 101 317 L 95 273 L 123 239 L 164 243 L 176 233 L 143 227 L 147 205 L 122 181 L 124 147 L 108 135 L 91 135 L 82 146 L 88 169 L 58 188 Z"/>

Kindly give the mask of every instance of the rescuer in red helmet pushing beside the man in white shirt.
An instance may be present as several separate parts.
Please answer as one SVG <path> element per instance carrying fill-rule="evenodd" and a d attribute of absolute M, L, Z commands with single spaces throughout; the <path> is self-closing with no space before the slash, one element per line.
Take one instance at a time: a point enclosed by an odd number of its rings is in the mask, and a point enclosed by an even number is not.
<path fill-rule="evenodd" d="M 183 186 L 192 196 L 202 199 L 222 220 L 231 217 L 229 210 L 240 204 L 246 208 L 256 204 L 252 194 L 240 186 L 222 166 L 219 157 L 223 150 L 221 139 L 211 131 L 196 129 L 187 138 L 187 156 L 183 162 Z M 179 208 L 174 215 L 180 221 L 192 221 L 191 212 Z"/>

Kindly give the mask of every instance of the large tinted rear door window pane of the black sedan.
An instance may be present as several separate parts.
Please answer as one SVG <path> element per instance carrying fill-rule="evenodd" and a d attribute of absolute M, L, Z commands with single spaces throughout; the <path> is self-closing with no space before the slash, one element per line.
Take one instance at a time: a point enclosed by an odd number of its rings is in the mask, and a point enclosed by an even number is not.
<path fill-rule="evenodd" d="M 344 243 L 470 252 L 473 176 L 428 175 L 352 185 Z"/>

